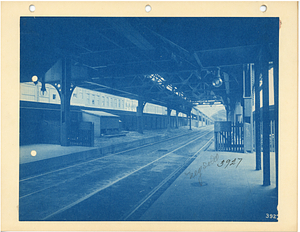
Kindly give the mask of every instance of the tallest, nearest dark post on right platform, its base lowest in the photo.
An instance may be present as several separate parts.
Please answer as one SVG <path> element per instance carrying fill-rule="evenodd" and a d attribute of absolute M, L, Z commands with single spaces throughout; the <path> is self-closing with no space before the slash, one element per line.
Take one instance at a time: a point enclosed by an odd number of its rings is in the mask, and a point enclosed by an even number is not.
<path fill-rule="evenodd" d="M 261 73 L 263 79 L 263 185 L 270 182 L 270 116 L 269 116 L 269 62 L 267 45 L 263 45 L 261 56 Z"/>

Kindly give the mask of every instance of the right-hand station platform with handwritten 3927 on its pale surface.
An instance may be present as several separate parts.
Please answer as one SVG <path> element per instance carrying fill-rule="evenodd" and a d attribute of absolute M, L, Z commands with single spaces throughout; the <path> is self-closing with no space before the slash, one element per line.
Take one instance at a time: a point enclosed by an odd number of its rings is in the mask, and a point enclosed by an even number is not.
<path fill-rule="evenodd" d="M 274 153 L 271 173 L 271 185 L 263 186 L 262 170 L 255 170 L 255 153 L 216 152 L 212 144 L 140 220 L 274 222 L 277 219 L 270 219 L 270 214 L 277 215 Z"/>

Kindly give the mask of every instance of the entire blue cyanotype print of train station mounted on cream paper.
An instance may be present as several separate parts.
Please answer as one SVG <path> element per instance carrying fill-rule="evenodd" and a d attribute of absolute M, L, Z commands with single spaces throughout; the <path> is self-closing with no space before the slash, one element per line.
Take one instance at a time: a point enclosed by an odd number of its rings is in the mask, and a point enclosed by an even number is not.
<path fill-rule="evenodd" d="M 19 221 L 278 221 L 279 17 L 19 23 Z"/>

